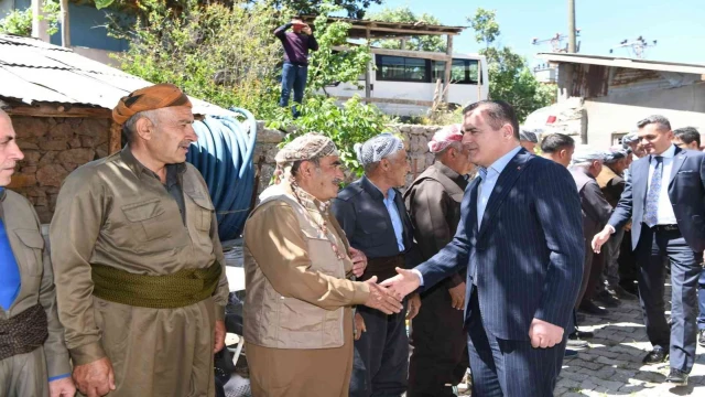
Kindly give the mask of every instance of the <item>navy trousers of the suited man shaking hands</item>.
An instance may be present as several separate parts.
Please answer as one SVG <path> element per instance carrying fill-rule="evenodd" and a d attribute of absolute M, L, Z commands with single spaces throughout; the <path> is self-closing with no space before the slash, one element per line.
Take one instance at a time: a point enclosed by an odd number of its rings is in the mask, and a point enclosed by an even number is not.
<path fill-rule="evenodd" d="M 566 337 L 549 348 L 533 348 L 530 341 L 495 337 L 485 330 L 477 293 L 473 293 L 469 304 L 467 330 L 473 396 L 552 397 Z"/>

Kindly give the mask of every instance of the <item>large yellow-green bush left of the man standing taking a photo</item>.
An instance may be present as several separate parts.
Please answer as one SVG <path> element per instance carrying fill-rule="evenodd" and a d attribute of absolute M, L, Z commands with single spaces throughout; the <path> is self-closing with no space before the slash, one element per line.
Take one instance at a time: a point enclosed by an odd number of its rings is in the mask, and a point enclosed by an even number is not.
<path fill-rule="evenodd" d="M 272 31 L 280 13 L 263 4 L 191 3 L 176 12 L 154 7 L 138 20 L 130 49 L 117 55 L 124 72 L 152 83 L 173 83 L 218 106 L 268 118 L 276 108 L 281 44 Z"/>

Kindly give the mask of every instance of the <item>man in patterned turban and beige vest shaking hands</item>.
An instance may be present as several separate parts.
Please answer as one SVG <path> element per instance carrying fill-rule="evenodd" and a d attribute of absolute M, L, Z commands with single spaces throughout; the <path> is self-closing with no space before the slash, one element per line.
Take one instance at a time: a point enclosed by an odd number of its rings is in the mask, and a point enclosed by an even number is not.
<path fill-rule="evenodd" d="M 257 397 L 344 397 L 352 372 L 352 305 L 380 315 L 401 302 L 362 276 L 329 213 L 343 170 L 333 141 L 306 133 L 275 157 L 282 181 L 245 224 L 245 341 Z"/>

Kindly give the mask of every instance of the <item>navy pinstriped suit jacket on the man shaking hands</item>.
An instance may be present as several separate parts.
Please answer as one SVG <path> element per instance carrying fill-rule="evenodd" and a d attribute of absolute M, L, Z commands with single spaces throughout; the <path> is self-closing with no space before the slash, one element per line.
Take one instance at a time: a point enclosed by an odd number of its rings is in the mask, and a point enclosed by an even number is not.
<path fill-rule="evenodd" d="M 499 175 L 479 227 L 478 185 L 476 179 L 465 191 L 453 242 L 416 268 L 424 288 L 467 266 L 466 322 L 475 282 L 485 329 L 497 337 L 529 340 L 534 318 L 566 328 L 584 260 L 571 173 L 522 149 Z"/>

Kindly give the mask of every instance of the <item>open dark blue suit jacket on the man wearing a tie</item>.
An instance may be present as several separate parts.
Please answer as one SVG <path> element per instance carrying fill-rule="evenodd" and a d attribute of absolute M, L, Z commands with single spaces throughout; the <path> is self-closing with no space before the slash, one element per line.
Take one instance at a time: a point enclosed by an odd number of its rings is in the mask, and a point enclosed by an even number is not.
<path fill-rule="evenodd" d="M 631 178 L 609 218 L 609 224 L 616 230 L 629 219 L 634 219 L 631 228 L 632 249 L 637 249 L 641 236 L 650 162 L 651 155 L 644 155 L 629 167 Z M 666 175 L 663 178 L 665 180 Z M 705 154 L 676 147 L 668 178 L 669 198 L 681 234 L 694 251 L 702 253 L 705 250 Z"/>

